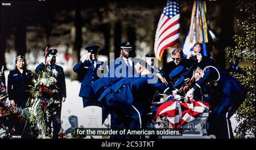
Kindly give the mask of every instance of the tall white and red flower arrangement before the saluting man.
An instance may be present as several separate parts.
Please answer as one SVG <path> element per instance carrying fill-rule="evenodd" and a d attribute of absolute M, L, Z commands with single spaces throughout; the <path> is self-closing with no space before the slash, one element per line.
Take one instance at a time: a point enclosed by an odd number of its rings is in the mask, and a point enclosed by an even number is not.
<path fill-rule="evenodd" d="M 58 96 L 59 87 L 56 86 L 57 74 L 55 69 L 46 67 L 32 77 L 34 85 L 31 87 L 31 95 L 35 98 L 35 102 L 28 118 L 32 126 L 36 126 L 43 134 L 51 133 L 51 122 L 56 117 L 61 103 Z"/>

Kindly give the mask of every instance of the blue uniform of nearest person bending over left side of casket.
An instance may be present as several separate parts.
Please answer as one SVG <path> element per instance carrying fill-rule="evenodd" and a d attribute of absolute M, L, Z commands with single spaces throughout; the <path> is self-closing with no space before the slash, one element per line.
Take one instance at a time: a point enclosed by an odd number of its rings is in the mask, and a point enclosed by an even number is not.
<path fill-rule="evenodd" d="M 153 79 L 154 78 L 154 79 Z M 148 81 L 155 81 L 148 84 Z M 143 128 L 145 127 L 145 117 L 150 111 L 150 101 L 154 97 L 155 91 L 166 90 L 168 87 L 162 82 L 158 81 L 158 77 L 155 75 L 143 77 L 141 75 L 135 75 L 133 77 L 127 77 L 118 81 L 104 91 L 98 101 L 103 101 L 105 106 L 110 109 L 115 115 L 112 121 L 111 128 Z M 112 136 L 113 138 L 113 136 Z M 138 138 L 138 136 L 117 136 L 114 138 Z"/>

